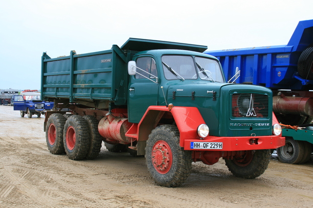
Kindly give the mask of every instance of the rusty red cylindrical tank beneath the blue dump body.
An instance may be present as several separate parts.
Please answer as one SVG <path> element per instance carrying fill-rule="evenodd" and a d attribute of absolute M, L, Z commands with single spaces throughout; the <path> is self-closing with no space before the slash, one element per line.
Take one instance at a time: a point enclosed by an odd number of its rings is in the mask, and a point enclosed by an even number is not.
<path fill-rule="evenodd" d="M 313 98 L 284 96 L 283 94 L 273 96 L 273 112 L 313 115 Z"/>

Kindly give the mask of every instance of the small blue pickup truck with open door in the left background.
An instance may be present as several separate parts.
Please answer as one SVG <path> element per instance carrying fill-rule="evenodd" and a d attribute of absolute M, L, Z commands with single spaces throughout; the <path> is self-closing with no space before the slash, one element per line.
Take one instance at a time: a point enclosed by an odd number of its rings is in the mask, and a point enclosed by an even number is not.
<path fill-rule="evenodd" d="M 28 118 L 36 114 L 40 117 L 46 110 L 52 110 L 54 103 L 41 100 L 40 93 L 26 92 L 21 95 L 14 95 L 14 111 L 20 111 L 21 116 L 24 117 L 27 113 Z"/>

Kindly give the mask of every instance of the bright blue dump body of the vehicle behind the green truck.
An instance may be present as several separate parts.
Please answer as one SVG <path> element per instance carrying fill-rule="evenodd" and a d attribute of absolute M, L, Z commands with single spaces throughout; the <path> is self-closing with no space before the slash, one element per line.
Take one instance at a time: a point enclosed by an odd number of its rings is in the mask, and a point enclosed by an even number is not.
<path fill-rule="evenodd" d="M 205 51 L 217 57 L 227 80 L 241 70 L 236 83 L 262 85 L 271 89 L 307 89 L 313 80 L 297 74 L 301 53 L 313 43 L 313 19 L 299 21 L 287 45 Z"/>

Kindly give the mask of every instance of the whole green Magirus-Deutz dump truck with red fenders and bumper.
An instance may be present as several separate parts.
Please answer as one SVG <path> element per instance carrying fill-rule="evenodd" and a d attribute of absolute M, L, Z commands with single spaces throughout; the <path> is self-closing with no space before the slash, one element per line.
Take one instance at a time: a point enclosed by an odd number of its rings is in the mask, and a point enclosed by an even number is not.
<path fill-rule="evenodd" d="M 51 153 L 93 159 L 105 141 L 145 155 L 156 184 L 177 187 L 192 162 L 223 158 L 255 178 L 285 144 L 268 88 L 227 83 L 205 46 L 130 38 L 121 48 L 42 57 L 42 97 L 54 101 L 45 132 Z M 67 111 L 64 111 L 67 109 Z"/>

